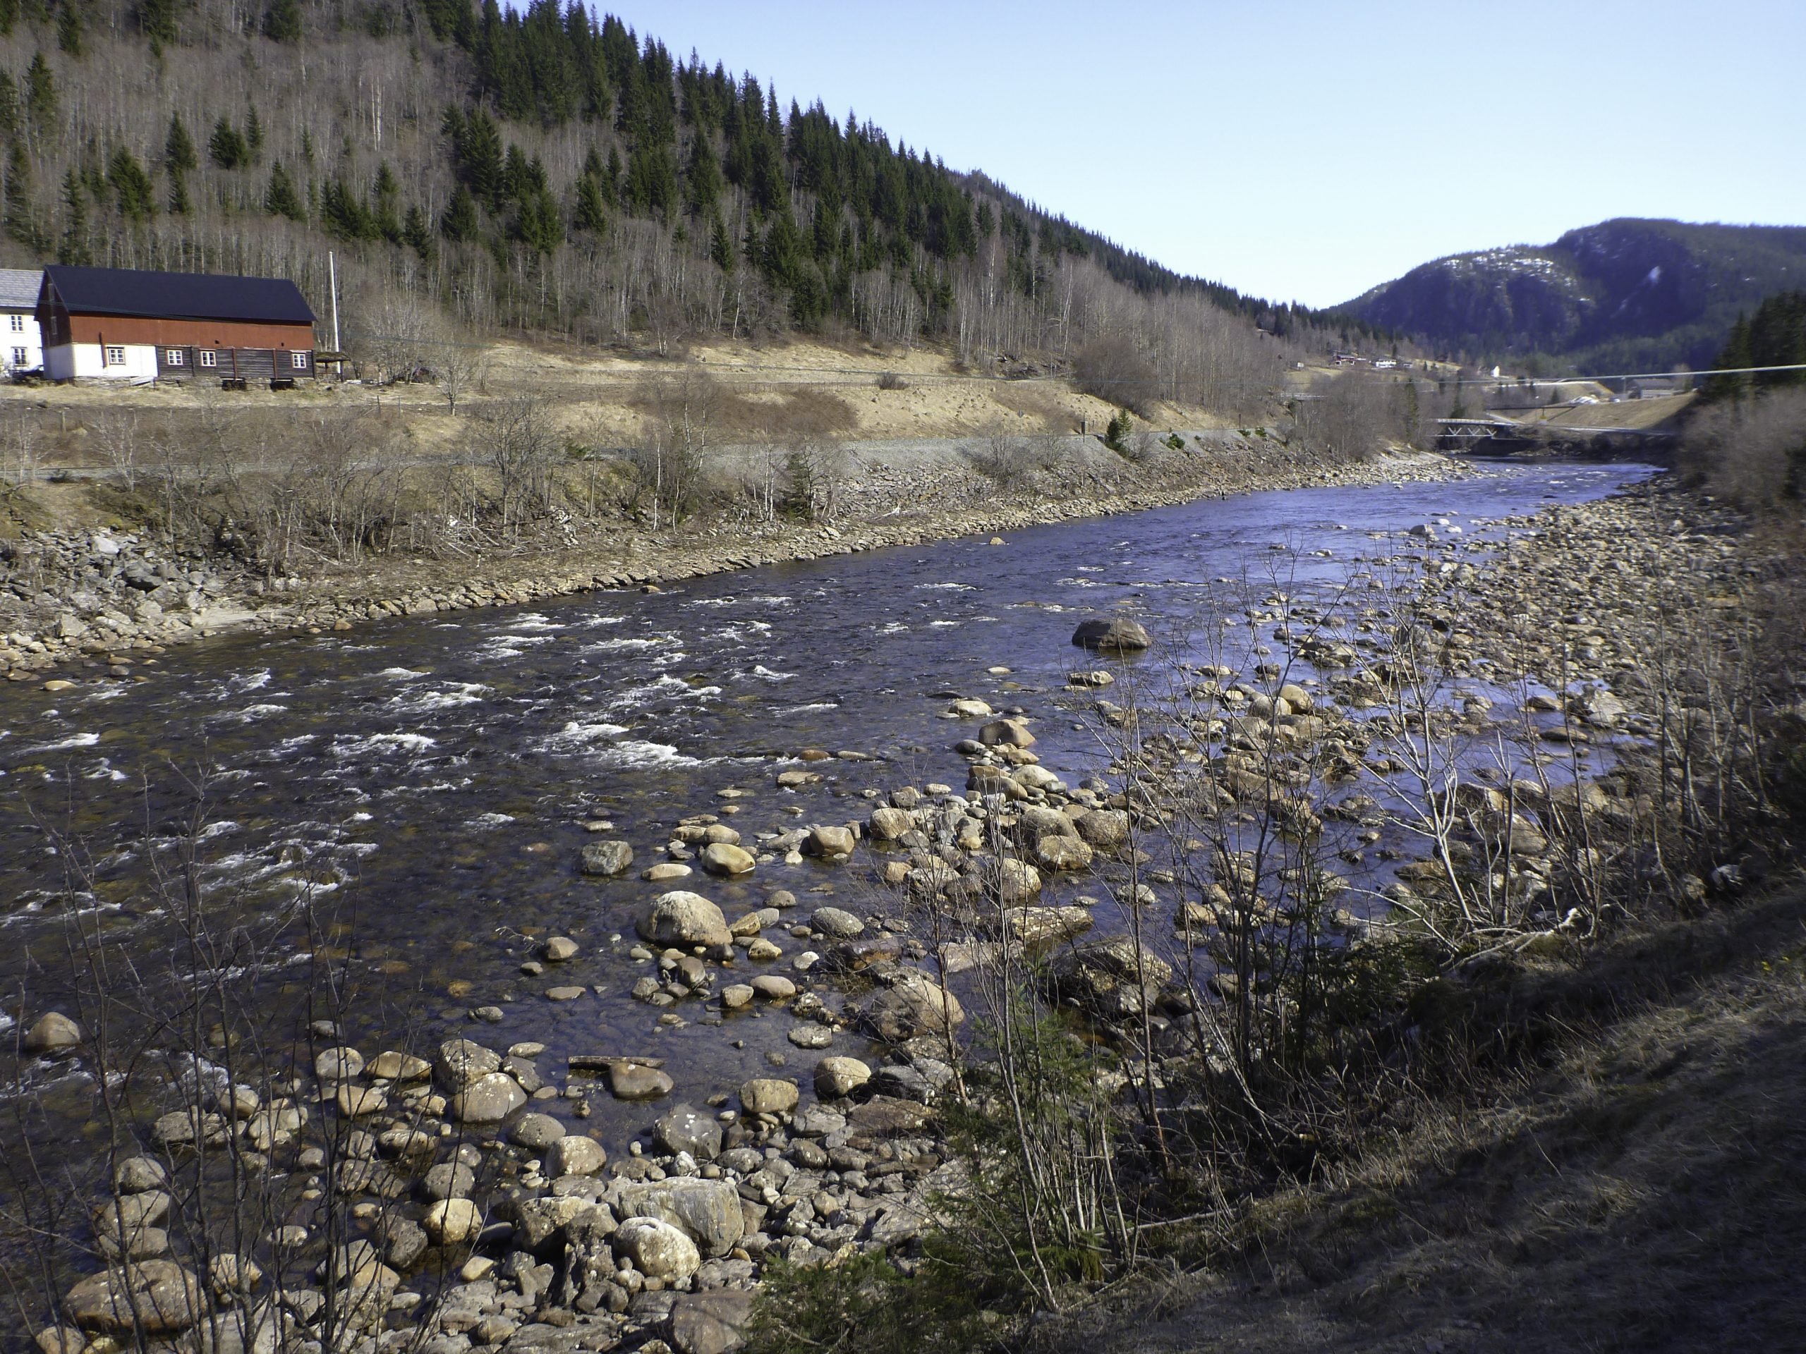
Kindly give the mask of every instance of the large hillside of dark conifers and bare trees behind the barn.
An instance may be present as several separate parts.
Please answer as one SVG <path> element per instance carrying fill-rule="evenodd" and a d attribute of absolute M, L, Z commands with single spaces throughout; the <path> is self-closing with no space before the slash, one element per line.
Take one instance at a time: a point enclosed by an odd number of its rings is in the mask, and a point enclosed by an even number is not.
<path fill-rule="evenodd" d="M 0 29 L 13 264 L 280 273 L 323 314 L 330 246 L 354 336 L 842 327 L 1217 404 L 1309 323 L 576 4 L 4 0 Z"/>

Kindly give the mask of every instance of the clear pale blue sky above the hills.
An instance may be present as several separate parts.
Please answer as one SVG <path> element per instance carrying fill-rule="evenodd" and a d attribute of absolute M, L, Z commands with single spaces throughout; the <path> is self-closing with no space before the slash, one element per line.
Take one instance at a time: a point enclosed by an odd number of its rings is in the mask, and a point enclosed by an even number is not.
<path fill-rule="evenodd" d="M 600 7 L 1279 300 L 1607 217 L 1806 224 L 1806 0 Z"/>

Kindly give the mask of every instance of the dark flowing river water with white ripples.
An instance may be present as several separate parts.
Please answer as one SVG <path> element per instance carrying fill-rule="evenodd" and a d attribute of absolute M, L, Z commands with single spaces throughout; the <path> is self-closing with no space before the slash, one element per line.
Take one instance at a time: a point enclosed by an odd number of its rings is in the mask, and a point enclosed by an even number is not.
<path fill-rule="evenodd" d="M 1001 547 L 952 540 L 663 594 L 222 637 L 143 668 L 148 681 L 4 686 L 0 1033 L 11 1038 L 20 1013 L 67 1006 L 78 912 L 137 953 L 152 988 L 184 978 L 170 910 L 144 879 L 173 859 L 204 785 L 202 885 L 240 915 L 278 913 L 303 894 L 336 915 L 332 939 L 359 993 L 347 1034 L 367 1054 L 401 1038 L 428 1054 L 452 1034 L 536 1042 L 554 1083 L 567 1054 L 657 1054 L 675 1099 L 695 1103 L 780 1056 L 805 1071 L 816 1054 L 789 1047 L 795 1020 L 780 1009 L 733 1013 L 722 1027 L 692 1002 L 670 1025 L 632 1000 L 650 971 L 628 955 L 634 915 L 672 886 L 697 888 L 730 919 L 780 888 L 802 899 L 793 915 L 831 901 L 863 915 L 883 906 L 872 859 L 861 849 L 843 867 L 775 859 L 731 883 L 643 883 L 679 818 L 733 807 L 722 821 L 753 849 L 762 830 L 863 818 L 869 787 L 961 787 L 952 744 L 972 726 L 945 719 L 952 693 L 1020 708 L 1046 767 L 1094 774 L 1107 756 L 1064 690 L 1067 672 L 1094 666 L 1069 643 L 1085 616 L 1131 607 L 1181 648 L 1203 645 L 1219 621 L 1214 581 L 1266 569 L 1273 547 L 1288 547 L 1295 590 L 1331 585 L 1391 549 L 1373 533 L 1443 520 L 1443 534 L 1485 540 L 1476 520 L 1597 498 L 1647 473 L 1504 462 L 1445 484 L 1199 500 L 1019 531 Z M 780 771 L 805 765 L 802 749 L 838 756 L 807 764 L 820 784 L 778 789 Z M 724 789 L 742 796 L 722 800 Z M 596 839 L 583 823 L 598 818 L 634 843 L 623 877 L 576 870 Z M 69 886 L 45 827 L 92 859 L 92 888 Z M 1047 892 L 1064 903 L 1096 886 L 1062 877 Z M 549 933 L 573 937 L 578 957 L 524 973 Z M 805 942 L 777 939 L 787 953 L 771 969 L 789 973 Z M 294 1004 L 305 937 L 293 946 L 256 955 L 278 1011 Z M 553 1002 L 553 986 L 585 991 Z M 473 1024 L 484 1006 L 498 1024 Z M 843 1031 L 833 1051 L 863 1047 Z M 79 1116 L 81 1087 L 78 1058 L 27 1065 L 0 1094 Z M 657 1110 L 600 1092 L 594 1112 L 585 1130 L 618 1152 Z"/>

